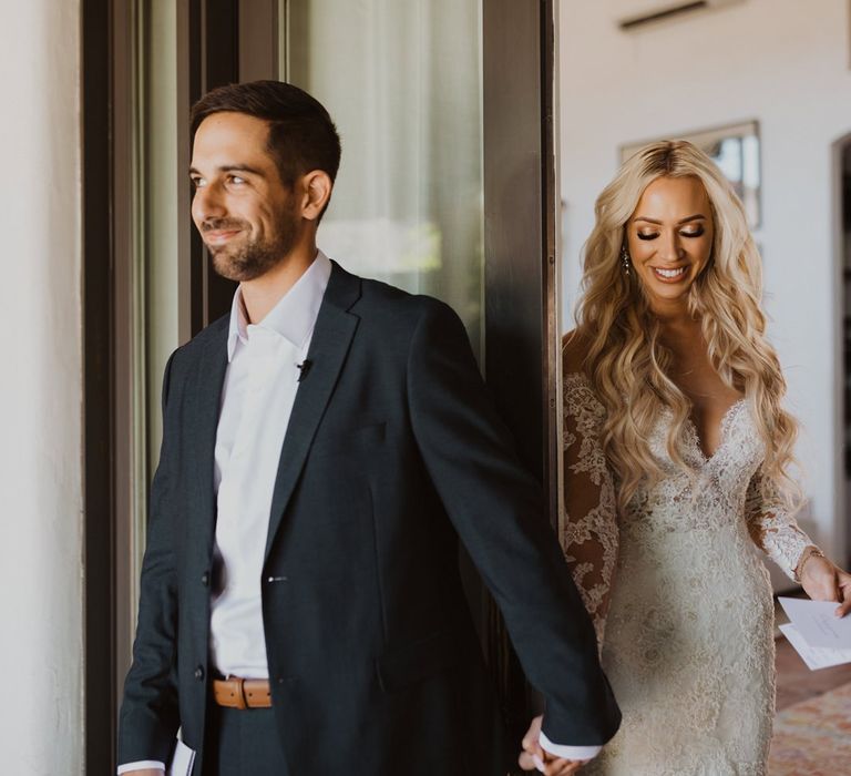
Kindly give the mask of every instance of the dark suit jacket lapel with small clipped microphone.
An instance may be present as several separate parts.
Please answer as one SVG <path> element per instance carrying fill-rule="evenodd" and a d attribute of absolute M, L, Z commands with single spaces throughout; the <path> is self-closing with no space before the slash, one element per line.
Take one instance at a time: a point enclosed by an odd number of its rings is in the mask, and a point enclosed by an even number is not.
<path fill-rule="evenodd" d="M 280 527 L 293 489 L 301 473 L 307 451 L 331 398 L 337 377 L 358 326 L 358 316 L 349 308 L 360 297 L 360 279 L 331 263 L 331 276 L 319 307 L 307 358 L 310 371 L 299 384 L 278 462 L 278 476 L 271 497 L 266 557 Z"/>

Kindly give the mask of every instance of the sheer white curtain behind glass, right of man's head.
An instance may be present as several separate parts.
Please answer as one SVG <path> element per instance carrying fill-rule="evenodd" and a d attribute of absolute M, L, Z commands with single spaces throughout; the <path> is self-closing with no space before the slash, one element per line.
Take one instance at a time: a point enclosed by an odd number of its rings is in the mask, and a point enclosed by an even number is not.
<path fill-rule="evenodd" d="M 342 164 L 319 244 L 482 326 L 480 0 L 288 0 L 281 79 L 320 100 Z"/>

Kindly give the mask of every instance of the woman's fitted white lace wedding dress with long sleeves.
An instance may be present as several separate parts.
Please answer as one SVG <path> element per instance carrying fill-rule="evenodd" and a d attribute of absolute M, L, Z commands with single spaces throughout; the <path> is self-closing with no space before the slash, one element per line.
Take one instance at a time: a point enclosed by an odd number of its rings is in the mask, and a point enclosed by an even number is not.
<path fill-rule="evenodd" d="M 694 426 L 683 472 L 666 451 L 670 416 L 649 439 L 665 474 L 616 518 L 598 442 L 605 411 L 582 375 L 564 381 L 562 540 L 603 644 L 624 714 L 583 774 L 766 773 L 775 706 L 773 610 L 756 543 L 793 575 L 810 540 L 761 491 L 763 446 L 744 401 L 711 458 Z M 607 611 L 606 611 L 607 610 Z"/>

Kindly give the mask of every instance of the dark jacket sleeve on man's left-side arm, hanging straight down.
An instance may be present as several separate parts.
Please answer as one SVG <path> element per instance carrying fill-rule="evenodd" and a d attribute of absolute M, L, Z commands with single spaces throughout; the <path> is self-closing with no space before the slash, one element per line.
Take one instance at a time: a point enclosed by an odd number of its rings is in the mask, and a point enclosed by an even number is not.
<path fill-rule="evenodd" d="M 133 663 L 124 683 L 119 722 L 119 763 L 168 762 L 180 726 L 177 709 L 176 524 L 168 400 L 174 354 L 163 379 L 163 443 L 151 484 L 147 543 L 142 564 Z"/>

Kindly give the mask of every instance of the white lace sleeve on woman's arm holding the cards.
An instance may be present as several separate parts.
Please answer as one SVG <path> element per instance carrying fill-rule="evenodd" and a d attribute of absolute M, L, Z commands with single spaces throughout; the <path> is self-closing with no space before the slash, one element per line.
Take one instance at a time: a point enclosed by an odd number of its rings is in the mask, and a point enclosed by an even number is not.
<path fill-rule="evenodd" d="M 798 528 L 794 514 L 773 483 L 761 472 L 753 474 L 745 502 L 748 533 L 783 573 L 798 581 L 796 569 L 804 549 L 812 544 L 810 538 Z"/>

